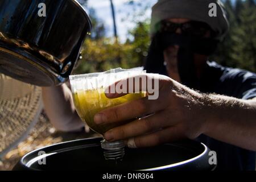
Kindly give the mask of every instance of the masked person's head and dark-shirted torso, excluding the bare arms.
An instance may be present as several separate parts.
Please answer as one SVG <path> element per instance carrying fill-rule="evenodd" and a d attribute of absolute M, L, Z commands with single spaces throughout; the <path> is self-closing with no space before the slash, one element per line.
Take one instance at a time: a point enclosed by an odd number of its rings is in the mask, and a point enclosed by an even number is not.
<path fill-rule="evenodd" d="M 208 16 L 210 2 L 218 5 L 217 17 Z M 152 8 L 152 43 L 144 69 L 170 76 L 203 93 L 254 98 L 254 73 L 207 61 L 228 28 L 224 6 L 218 1 L 160 0 Z M 255 170 L 255 152 L 203 134 L 196 139 L 216 151 L 217 169 Z"/>

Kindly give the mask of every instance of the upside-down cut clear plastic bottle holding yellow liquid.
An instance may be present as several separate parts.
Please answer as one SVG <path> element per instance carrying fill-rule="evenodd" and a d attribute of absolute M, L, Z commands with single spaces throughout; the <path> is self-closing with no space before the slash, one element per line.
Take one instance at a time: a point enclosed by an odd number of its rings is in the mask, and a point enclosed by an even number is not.
<path fill-rule="evenodd" d="M 82 121 L 86 122 L 90 129 L 102 135 L 113 127 L 129 122 L 123 121 L 122 123 L 96 125 L 94 123 L 94 115 L 109 107 L 145 97 L 146 92 L 129 93 L 125 96 L 113 99 L 105 96 L 105 90 L 109 88 L 110 85 L 125 78 L 141 75 L 142 73 L 145 73 L 145 71 L 117 68 L 102 73 L 70 76 L 73 102 Z M 117 159 L 115 154 L 124 155 L 124 151 L 120 150 L 120 148 L 122 148 L 121 146 L 123 146 L 121 141 L 112 143 L 103 140 L 101 146 L 106 150 L 112 150 L 112 153 L 105 152 L 106 159 Z"/>

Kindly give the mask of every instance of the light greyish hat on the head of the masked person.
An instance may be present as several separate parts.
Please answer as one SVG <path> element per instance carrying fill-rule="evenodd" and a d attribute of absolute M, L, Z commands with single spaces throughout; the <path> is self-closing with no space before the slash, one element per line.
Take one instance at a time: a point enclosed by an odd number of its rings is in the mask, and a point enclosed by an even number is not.
<path fill-rule="evenodd" d="M 217 7 L 217 16 L 209 16 L 209 5 Z M 217 33 L 217 39 L 224 39 L 229 30 L 224 5 L 219 0 L 159 0 L 152 7 L 151 35 L 157 31 L 157 24 L 168 18 L 187 18 L 209 24 Z"/>

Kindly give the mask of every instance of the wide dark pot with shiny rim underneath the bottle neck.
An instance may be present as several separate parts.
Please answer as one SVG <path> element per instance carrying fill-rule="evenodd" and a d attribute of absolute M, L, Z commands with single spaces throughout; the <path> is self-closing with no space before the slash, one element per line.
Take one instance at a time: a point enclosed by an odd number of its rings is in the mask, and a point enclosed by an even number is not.
<path fill-rule="evenodd" d="M 101 140 L 81 139 L 40 148 L 23 156 L 14 170 L 211 171 L 216 168 L 209 164 L 209 148 L 193 140 L 149 148 L 126 148 L 123 160 L 118 163 L 105 160 Z"/>

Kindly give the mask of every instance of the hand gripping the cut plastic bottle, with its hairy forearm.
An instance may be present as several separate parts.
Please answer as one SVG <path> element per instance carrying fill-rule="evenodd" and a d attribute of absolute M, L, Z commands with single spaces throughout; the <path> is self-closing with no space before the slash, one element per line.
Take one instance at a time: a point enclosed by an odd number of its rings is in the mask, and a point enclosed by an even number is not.
<path fill-rule="evenodd" d="M 147 147 L 181 138 L 194 139 L 205 134 L 222 142 L 256 151 L 255 100 L 202 94 L 169 77 L 146 75 L 151 80 L 159 79 L 157 100 L 148 100 L 146 97 L 95 115 L 94 122 L 99 125 L 148 115 L 109 130 L 104 135 L 107 140 L 124 139 L 127 142 L 127 139 L 134 138 L 136 147 Z M 146 88 L 147 86 L 141 86 L 139 89 L 147 91 Z M 116 98 L 123 94 L 106 96 Z"/>

